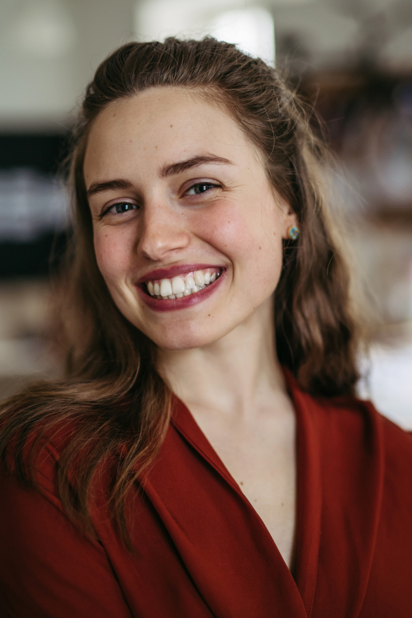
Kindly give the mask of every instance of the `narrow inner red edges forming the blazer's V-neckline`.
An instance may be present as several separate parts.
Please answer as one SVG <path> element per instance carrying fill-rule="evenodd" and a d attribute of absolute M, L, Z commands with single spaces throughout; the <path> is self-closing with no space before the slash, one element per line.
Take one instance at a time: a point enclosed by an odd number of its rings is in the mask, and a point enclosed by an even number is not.
<path fill-rule="evenodd" d="M 317 561 L 321 536 L 321 465 L 319 444 L 314 427 L 310 422 L 310 414 L 305 402 L 305 395 L 297 388 L 293 376 L 285 370 L 286 387 L 293 402 L 296 414 L 296 453 L 297 453 L 297 510 L 295 534 L 295 576 L 286 565 L 279 549 L 262 518 L 251 502 L 244 495 L 238 483 L 233 479 L 225 464 L 211 446 L 209 440 L 196 423 L 187 406 L 176 398 L 172 424 L 193 448 L 231 485 L 240 496 L 249 511 L 263 529 L 268 545 L 273 547 L 277 562 L 285 571 L 284 576 L 293 581 L 297 593 L 304 604 L 305 613 L 310 617 L 314 589 L 317 580 Z"/>

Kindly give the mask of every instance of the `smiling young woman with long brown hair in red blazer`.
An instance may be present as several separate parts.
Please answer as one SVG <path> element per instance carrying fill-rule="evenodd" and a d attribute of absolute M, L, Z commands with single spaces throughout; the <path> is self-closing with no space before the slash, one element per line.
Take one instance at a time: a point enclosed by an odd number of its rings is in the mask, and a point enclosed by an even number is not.
<path fill-rule="evenodd" d="M 67 378 L 3 405 L 3 615 L 411 615 L 412 441 L 354 396 L 321 156 L 233 45 L 100 65 L 71 156 Z"/>

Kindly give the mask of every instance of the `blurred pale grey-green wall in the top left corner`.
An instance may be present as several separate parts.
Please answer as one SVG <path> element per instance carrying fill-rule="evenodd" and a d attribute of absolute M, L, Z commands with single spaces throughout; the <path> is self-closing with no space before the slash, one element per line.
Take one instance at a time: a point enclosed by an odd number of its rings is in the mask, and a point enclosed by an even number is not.
<path fill-rule="evenodd" d="M 115 47 L 133 37 L 131 0 L 2 0 L 0 130 L 62 130 Z"/>

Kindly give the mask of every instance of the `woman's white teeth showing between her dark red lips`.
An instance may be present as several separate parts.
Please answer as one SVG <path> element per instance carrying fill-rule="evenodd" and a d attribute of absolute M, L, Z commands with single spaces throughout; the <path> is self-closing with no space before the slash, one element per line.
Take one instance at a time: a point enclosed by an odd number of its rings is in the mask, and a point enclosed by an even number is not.
<path fill-rule="evenodd" d="M 172 279 L 153 279 L 147 281 L 146 286 L 150 296 L 157 299 L 173 300 L 204 290 L 215 282 L 221 273 L 221 268 L 205 268 L 202 271 L 183 273 Z"/>

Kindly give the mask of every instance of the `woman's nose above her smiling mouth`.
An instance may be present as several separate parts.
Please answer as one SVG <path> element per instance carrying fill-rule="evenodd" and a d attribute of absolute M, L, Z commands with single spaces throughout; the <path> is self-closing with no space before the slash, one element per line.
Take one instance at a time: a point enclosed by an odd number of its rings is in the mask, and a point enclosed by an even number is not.
<path fill-rule="evenodd" d="M 137 251 L 152 262 L 175 258 L 190 244 L 184 217 L 167 203 L 146 204 Z"/>

